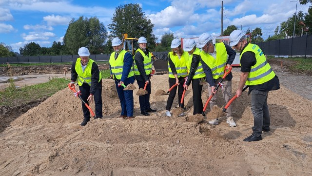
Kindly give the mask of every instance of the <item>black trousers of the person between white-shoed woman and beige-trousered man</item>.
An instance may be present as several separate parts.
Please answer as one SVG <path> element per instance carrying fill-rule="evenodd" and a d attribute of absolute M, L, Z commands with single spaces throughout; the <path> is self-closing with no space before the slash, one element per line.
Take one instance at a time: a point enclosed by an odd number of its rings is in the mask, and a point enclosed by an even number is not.
<path fill-rule="evenodd" d="M 201 90 L 203 85 L 200 85 L 200 79 L 192 79 L 192 89 L 193 89 L 193 104 L 194 111 L 193 115 L 201 114 L 203 112 L 204 106 L 201 99 Z"/>

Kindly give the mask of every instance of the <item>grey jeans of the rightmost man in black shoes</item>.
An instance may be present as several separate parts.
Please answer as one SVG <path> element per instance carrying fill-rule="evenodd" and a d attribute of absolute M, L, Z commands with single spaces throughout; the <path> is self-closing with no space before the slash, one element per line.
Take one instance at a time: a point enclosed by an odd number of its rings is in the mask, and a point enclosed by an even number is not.
<path fill-rule="evenodd" d="M 270 129 L 270 113 L 267 104 L 269 91 L 252 91 L 252 113 L 254 115 L 253 133 L 258 137 L 262 128 Z"/>

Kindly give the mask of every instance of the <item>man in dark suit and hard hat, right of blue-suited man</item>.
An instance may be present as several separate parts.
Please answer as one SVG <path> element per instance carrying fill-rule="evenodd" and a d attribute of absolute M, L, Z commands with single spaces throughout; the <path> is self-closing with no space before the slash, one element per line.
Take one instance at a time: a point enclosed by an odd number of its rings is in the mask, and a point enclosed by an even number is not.
<path fill-rule="evenodd" d="M 151 108 L 150 95 L 151 95 L 151 73 L 152 73 L 152 53 L 146 48 L 147 40 L 145 37 L 140 37 L 137 40 L 139 48 L 134 56 L 135 62 L 135 78 L 139 88 L 144 88 L 145 83 L 148 83 L 146 90 L 148 94 L 138 97 L 140 103 L 141 114 L 150 116 L 149 112 L 156 112 Z"/>

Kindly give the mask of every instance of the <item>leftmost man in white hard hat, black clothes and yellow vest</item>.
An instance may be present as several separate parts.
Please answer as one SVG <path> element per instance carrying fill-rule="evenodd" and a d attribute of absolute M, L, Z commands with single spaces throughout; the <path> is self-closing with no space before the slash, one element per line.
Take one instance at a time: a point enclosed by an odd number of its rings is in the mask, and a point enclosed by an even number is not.
<path fill-rule="evenodd" d="M 81 99 L 89 105 L 89 102 L 95 101 L 96 117 L 103 117 L 102 110 L 102 75 L 98 69 L 98 64 L 89 59 L 90 52 L 88 48 L 81 47 L 78 50 L 79 58 L 73 62 L 71 69 L 70 86 L 74 86 L 78 81 Z M 90 121 L 90 111 L 82 102 L 83 121 L 80 124 L 85 126 Z"/>

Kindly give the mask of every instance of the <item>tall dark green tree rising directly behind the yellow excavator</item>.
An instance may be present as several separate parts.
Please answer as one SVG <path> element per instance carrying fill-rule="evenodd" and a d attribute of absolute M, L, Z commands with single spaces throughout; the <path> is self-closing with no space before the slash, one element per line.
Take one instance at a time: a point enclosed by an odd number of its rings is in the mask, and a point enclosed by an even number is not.
<path fill-rule="evenodd" d="M 147 19 L 139 4 L 124 4 L 116 7 L 112 23 L 108 25 L 112 37 L 122 39 L 123 34 L 129 38 L 145 37 L 150 49 L 154 49 L 156 37 L 153 33 L 154 24 Z"/>

